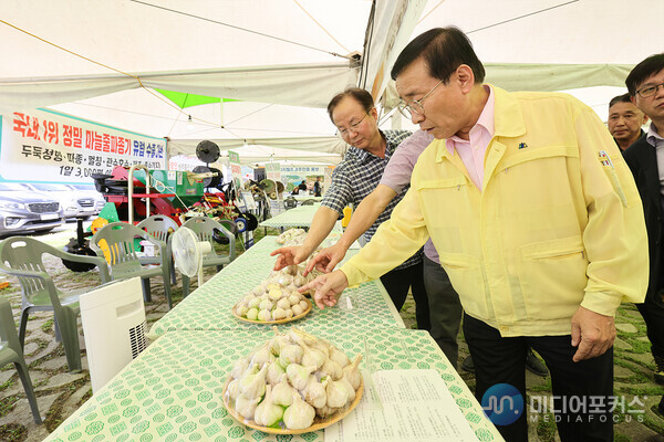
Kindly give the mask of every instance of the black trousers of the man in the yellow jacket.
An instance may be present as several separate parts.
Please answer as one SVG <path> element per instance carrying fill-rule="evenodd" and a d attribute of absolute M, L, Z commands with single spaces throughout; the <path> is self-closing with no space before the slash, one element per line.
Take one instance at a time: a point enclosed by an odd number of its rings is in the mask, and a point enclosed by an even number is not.
<path fill-rule="evenodd" d="M 526 409 L 519 419 L 509 425 L 497 425 L 507 442 L 528 441 L 526 411 L 531 404 L 526 397 L 528 346 L 541 355 L 551 373 L 554 410 L 549 411 L 556 413 L 560 440 L 613 441 L 610 412 L 614 404 L 613 347 L 596 358 L 574 362 L 572 356 L 577 348 L 571 346 L 570 335 L 501 337 L 496 328 L 468 315 L 464 315 L 464 335 L 475 362 L 477 400 L 481 403 L 486 390 L 497 383 L 509 383 L 523 397 Z M 542 402 L 550 402 L 550 398 L 546 393 L 530 399 L 533 409 L 539 409 Z M 532 417 L 546 419 L 542 412 L 533 412 Z"/>

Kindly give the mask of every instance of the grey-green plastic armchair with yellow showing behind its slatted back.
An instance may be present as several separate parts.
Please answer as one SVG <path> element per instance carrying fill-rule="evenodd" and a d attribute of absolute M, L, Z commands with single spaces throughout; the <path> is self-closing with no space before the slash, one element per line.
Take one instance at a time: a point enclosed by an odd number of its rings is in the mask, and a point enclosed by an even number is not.
<path fill-rule="evenodd" d="M 158 256 L 141 256 L 137 241 L 148 241 L 155 245 Z M 143 283 L 143 298 L 151 302 L 149 278 L 164 278 L 164 293 L 168 309 L 173 307 L 170 297 L 170 260 L 166 243 L 153 238 L 145 230 L 126 222 L 112 222 L 96 231 L 90 240 L 90 248 L 97 256 L 105 257 L 111 267 L 111 280 L 127 280 L 139 276 Z"/>

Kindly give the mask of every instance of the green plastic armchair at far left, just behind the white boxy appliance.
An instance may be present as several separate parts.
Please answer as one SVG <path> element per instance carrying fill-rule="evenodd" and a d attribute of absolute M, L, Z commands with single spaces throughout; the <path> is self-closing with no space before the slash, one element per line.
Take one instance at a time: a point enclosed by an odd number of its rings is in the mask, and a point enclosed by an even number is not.
<path fill-rule="evenodd" d="M 81 348 L 76 317 L 80 314 L 79 296 L 92 288 L 62 292 L 46 273 L 43 255 L 50 254 L 73 262 L 94 264 L 100 269 L 102 283 L 111 281 L 106 262 L 97 256 L 66 253 L 33 238 L 14 236 L 0 241 L 0 272 L 19 278 L 22 292 L 19 343 L 25 341 L 25 327 L 31 311 L 53 311 L 55 339 L 62 340 L 66 364 L 71 372 L 81 371 Z"/>

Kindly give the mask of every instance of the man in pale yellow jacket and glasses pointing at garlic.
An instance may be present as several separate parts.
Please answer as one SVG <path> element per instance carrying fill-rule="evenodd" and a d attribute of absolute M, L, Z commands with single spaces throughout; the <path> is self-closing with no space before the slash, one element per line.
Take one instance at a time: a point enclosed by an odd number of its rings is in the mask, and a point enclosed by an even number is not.
<path fill-rule="evenodd" d="M 527 440 L 523 407 L 491 407 L 501 394 L 526 398 L 531 346 L 551 372 L 561 440 L 612 441 L 613 317 L 647 286 L 634 180 L 588 106 L 507 93 L 484 74 L 456 28 L 403 50 L 392 70 L 402 109 L 436 140 L 372 242 L 310 287 L 319 307 L 333 306 L 430 236 L 464 306 L 476 396 L 506 440 Z"/>

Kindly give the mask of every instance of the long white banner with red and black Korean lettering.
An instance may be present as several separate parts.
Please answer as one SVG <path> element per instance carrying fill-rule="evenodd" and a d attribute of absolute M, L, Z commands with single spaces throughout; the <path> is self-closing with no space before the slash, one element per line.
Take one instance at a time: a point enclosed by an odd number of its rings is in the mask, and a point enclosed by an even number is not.
<path fill-rule="evenodd" d="M 166 140 L 52 110 L 0 116 L 0 179 L 92 182 L 115 166 L 166 169 Z"/>

